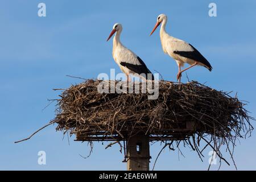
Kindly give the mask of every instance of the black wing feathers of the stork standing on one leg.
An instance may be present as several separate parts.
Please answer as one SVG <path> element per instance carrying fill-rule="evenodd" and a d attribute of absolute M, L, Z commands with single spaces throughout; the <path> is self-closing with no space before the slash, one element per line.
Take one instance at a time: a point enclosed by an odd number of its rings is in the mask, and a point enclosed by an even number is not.
<path fill-rule="evenodd" d="M 191 46 L 194 49 L 194 51 L 174 51 L 174 53 L 195 61 L 199 61 L 200 63 L 206 65 L 209 71 L 212 71 L 212 65 L 210 65 L 209 61 L 205 59 L 205 57 L 201 55 L 201 53 L 197 51 L 195 47 L 193 47 L 191 44 L 189 44 L 189 46 Z"/>

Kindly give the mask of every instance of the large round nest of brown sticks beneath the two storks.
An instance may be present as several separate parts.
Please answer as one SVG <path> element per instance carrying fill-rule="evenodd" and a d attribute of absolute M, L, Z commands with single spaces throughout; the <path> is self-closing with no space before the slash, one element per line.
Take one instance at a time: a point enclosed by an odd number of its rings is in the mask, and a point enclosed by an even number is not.
<path fill-rule="evenodd" d="M 125 140 L 136 133 L 155 136 L 154 140 L 171 137 L 199 154 L 201 139 L 218 152 L 221 144 L 234 147 L 237 138 L 253 130 L 253 118 L 237 97 L 198 82 L 160 81 L 156 100 L 148 100 L 148 93 L 99 93 L 100 82 L 86 80 L 63 91 L 54 120 L 57 130 L 84 139 L 101 135 Z"/>

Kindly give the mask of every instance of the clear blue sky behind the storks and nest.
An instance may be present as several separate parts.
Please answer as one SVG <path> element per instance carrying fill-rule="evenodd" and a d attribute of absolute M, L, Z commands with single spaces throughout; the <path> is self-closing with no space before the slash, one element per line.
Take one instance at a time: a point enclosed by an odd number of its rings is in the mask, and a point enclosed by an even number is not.
<path fill-rule="evenodd" d="M 47 99 L 58 97 L 53 88 L 68 88 L 80 80 L 73 75 L 96 78 L 119 68 L 112 58 L 112 42 L 106 38 L 114 23 L 122 23 L 122 43 L 132 49 L 151 71 L 165 80 L 175 80 L 177 65 L 160 46 L 159 30 L 148 36 L 156 17 L 168 16 L 167 32 L 195 46 L 213 66 L 190 69 L 190 80 L 207 82 L 217 90 L 234 91 L 249 101 L 246 109 L 256 117 L 256 2 L 255 1 L 3 1 L 0 6 L 0 169 L 125 170 L 118 146 L 105 150 L 94 143 L 88 159 L 86 143 L 47 127 L 31 140 L 14 144 L 55 117 L 55 104 L 47 109 Z M 38 17 L 38 3 L 47 6 L 47 16 Z M 209 17 L 208 5 L 217 4 L 217 17 Z M 183 81 L 187 81 L 185 76 Z M 255 125 L 254 125 L 255 126 Z M 256 169 L 256 135 L 241 139 L 234 156 L 238 169 Z M 161 146 L 151 146 L 151 167 Z M 38 151 L 46 151 L 47 164 L 39 165 Z M 195 152 L 183 148 L 165 150 L 155 169 L 205 170 Z M 229 162 L 229 156 L 227 155 Z M 212 169 L 217 169 L 213 166 Z M 234 170 L 223 163 L 221 169 Z"/>

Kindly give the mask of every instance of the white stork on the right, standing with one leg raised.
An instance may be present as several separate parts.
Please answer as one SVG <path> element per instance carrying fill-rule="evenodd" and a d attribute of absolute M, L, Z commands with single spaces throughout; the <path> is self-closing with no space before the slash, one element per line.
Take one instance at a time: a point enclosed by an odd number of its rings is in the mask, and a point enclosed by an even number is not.
<path fill-rule="evenodd" d="M 203 55 L 195 47 L 191 44 L 184 42 L 183 40 L 174 38 L 166 33 L 166 23 L 167 16 L 164 14 L 160 14 L 156 20 L 156 24 L 151 34 L 154 33 L 156 28 L 160 25 L 160 40 L 163 48 L 163 52 L 171 56 L 177 63 L 179 67 L 179 73 L 177 73 L 177 80 L 180 82 L 181 73 L 188 70 L 189 68 L 194 67 L 195 65 L 201 65 L 209 71 L 212 71 L 212 66 L 205 59 Z M 191 66 L 181 71 L 181 67 L 183 67 L 184 63 L 188 63 Z"/>

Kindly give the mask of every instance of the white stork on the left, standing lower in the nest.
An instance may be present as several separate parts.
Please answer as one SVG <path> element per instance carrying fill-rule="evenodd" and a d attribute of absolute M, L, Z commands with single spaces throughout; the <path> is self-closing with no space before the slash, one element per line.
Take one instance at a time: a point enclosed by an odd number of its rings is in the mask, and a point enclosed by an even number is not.
<path fill-rule="evenodd" d="M 154 76 L 147 68 L 146 64 L 142 61 L 142 59 L 135 55 L 133 51 L 123 46 L 123 44 L 120 42 L 120 35 L 122 30 L 122 25 L 115 23 L 113 30 L 107 39 L 108 41 L 116 32 L 113 39 L 112 52 L 115 63 L 117 63 L 121 71 L 125 73 L 127 81 L 131 81 L 129 74 L 138 74 L 140 77 L 146 78 L 146 80 L 154 80 Z"/>

